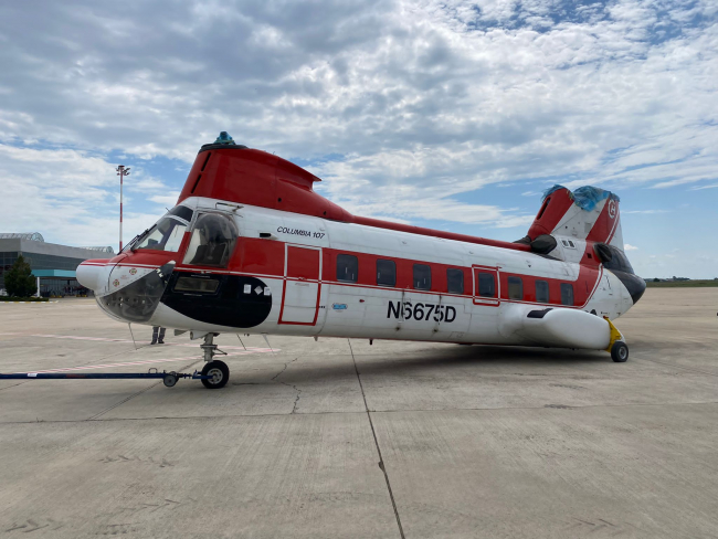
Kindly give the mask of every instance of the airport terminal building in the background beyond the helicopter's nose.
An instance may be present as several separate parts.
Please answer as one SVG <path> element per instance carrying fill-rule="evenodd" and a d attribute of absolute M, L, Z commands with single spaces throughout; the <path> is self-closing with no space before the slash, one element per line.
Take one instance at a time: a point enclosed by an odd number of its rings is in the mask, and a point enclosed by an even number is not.
<path fill-rule="evenodd" d="M 22 255 L 40 283 L 42 296 L 92 295 L 75 278 L 81 262 L 112 258 L 113 247 L 71 247 L 46 243 L 38 232 L 0 233 L 0 294 L 4 294 L 4 273 Z"/>

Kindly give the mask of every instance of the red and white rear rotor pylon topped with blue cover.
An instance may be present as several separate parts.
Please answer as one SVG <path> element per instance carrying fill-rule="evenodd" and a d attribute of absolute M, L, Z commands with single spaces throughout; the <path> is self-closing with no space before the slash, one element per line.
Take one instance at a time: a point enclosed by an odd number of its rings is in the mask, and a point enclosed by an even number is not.
<path fill-rule="evenodd" d="M 535 241 L 549 234 L 557 241 L 605 243 L 623 251 L 619 203 L 617 195 L 595 187 L 580 187 L 571 192 L 553 186 L 543 193 L 528 239 Z"/>

